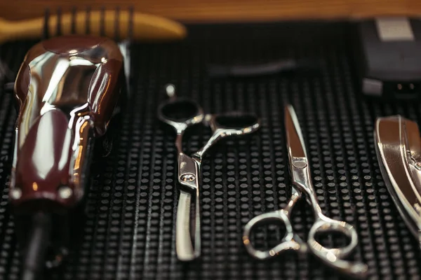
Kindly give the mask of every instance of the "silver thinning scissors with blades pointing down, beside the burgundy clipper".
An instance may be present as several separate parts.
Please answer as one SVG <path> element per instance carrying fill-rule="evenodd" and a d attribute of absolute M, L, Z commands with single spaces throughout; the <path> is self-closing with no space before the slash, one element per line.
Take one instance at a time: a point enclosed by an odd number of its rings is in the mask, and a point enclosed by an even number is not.
<path fill-rule="evenodd" d="M 185 187 L 180 189 L 178 200 L 175 249 L 179 260 L 189 261 L 201 253 L 199 190 L 203 155 L 220 139 L 255 132 L 260 127 L 260 120 L 256 116 L 242 113 L 205 114 L 196 102 L 176 97 L 174 85 L 167 85 L 166 92 L 169 99 L 159 106 L 158 117 L 177 132 L 175 146 L 178 153 L 178 182 Z M 199 123 L 208 125 L 213 134 L 199 151 L 189 157 L 182 151 L 182 137 L 187 128 Z M 193 219 L 190 218 L 192 195 L 196 200 Z"/>

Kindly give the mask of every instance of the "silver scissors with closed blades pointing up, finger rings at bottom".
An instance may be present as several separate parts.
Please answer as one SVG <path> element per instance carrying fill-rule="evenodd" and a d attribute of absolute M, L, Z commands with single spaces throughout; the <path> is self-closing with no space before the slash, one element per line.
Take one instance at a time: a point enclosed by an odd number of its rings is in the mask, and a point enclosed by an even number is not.
<path fill-rule="evenodd" d="M 360 262 L 343 260 L 358 244 L 358 236 L 355 228 L 343 221 L 328 218 L 321 212 L 311 180 L 309 160 L 307 158 L 300 124 L 298 123 L 298 118 L 295 115 L 293 107 L 290 105 L 285 108 L 285 127 L 290 174 L 293 181 L 292 196 L 286 208 L 261 214 L 251 219 L 244 228 L 243 244 L 246 246 L 250 255 L 260 260 L 274 257 L 288 250 L 299 252 L 311 251 L 319 260 L 322 260 L 330 267 L 338 269 L 348 276 L 358 278 L 366 276 L 367 265 Z M 300 200 L 301 193 L 305 194 L 307 202 L 312 206 L 315 218 L 314 224 L 309 231 L 307 244 L 293 232 L 290 222 L 291 211 L 295 203 Z M 273 223 L 274 221 L 281 221 L 286 226 L 286 235 L 284 235 L 281 242 L 274 246 L 274 248 L 270 248 L 267 251 L 257 250 L 250 241 L 250 233 L 256 226 Z M 350 242 L 342 248 L 326 248 L 315 239 L 316 235 L 326 232 L 340 232 L 342 235 L 349 237 Z"/>

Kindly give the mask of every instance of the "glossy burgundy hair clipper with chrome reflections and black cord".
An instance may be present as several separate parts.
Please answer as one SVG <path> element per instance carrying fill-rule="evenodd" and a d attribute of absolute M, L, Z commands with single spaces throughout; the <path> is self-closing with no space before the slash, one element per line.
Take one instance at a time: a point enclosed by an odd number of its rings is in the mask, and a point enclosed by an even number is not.
<path fill-rule="evenodd" d="M 22 279 L 36 279 L 67 251 L 67 217 L 85 192 L 94 140 L 119 102 L 123 68 L 114 41 L 79 35 L 37 43 L 20 66 L 10 200 Z"/>

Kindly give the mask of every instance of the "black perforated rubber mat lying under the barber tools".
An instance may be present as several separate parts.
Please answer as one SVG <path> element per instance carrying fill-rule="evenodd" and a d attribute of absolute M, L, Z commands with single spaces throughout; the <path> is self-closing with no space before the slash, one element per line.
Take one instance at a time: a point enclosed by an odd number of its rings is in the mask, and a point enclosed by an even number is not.
<path fill-rule="evenodd" d="M 371 279 L 420 279 L 420 249 L 382 181 L 373 124 L 376 116 L 395 113 L 420 123 L 421 107 L 359 97 L 351 31 L 341 23 L 196 26 L 182 43 L 134 45 L 133 96 L 114 150 L 94 163 L 81 244 L 72 248 L 65 269 L 51 272 L 53 278 L 339 279 L 309 254 L 253 260 L 241 241 L 250 218 L 285 207 L 290 196 L 283 132 L 283 104 L 290 102 L 300 120 L 323 213 L 352 223 L 359 232 L 352 258 L 368 264 Z M 8 43 L 1 57 L 17 71 L 30 46 Z M 247 79 L 206 76 L 208 62 L 290 56 L 321 59 L 321 68 Z M 156 118 L 166 83 L 175 84 L 179 95 L 196 100 L 206 112 L 250 111 L 262 119 L 257 134 L 223 141 L 206 156 L 202 257 L 188 264 L 175 255 L 175 135 Z M 0 97 L 0 279 L 16 279 L 18 252 L 7 187 L 15 114 L 12 96 L 2 92 Z M 192 130 L 187 152 L 210 136 L 204 127 Z M 298 204 L 295 230 L 305 237 L 312 221 L 305 204 Z M 280 238 L 276 232 L 260 232 L 260 240 L 266 235 Z"/>

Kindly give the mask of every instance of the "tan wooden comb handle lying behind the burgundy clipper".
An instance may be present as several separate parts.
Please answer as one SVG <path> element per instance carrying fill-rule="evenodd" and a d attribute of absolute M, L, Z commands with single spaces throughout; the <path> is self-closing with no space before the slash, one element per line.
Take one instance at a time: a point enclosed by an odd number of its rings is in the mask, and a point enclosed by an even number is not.
<path fill-rule="evenodd" d="M 60 16 L 61 34 L 72 34 L 72 23 L 74 17 L 74 27 L 76 34 L 86 34 L 86 20 L 88 18 L 89 34 L 100 35 L 101 17 L 104 13 L 104 31 L 105 36 L 116 37 L 116 11 L 115 10 L 91 10 L 86 12 L 64 13 Z M 118 15 L 119 38 L 124 39 L 128 36 L 129 11 L 120 10 Z M 58 16 L 51 15 L 48 18 L 49 34 L 56 34 L 58 28 Z M 7 21 L 0 18 L 0 43 L 18 39 L 38 39 L 42 37 L 44 29 L 44 18 L 36 18 L 23 21 Z M 161 18 L 156 15 L 147 15 L 144 13 L 133 13 L 133 34 L 134 41 L 165 41 L 179 40 L 186 36 L 187 31 L 183 25 L 173 20 Z"/>

